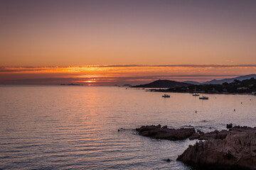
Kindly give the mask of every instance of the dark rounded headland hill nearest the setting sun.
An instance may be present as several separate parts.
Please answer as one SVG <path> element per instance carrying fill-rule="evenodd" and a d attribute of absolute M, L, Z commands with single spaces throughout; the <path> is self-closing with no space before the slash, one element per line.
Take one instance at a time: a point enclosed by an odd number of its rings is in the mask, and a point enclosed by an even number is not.
<path fill-rule="evenodd" d="M 178 82 L 178 81 L 172 81 L 172 80 L 156 80 L 149 84 L 141 84 L 137 86 L 137 88 L 174 88 L 174 87 L 181 87 L 181 86 L 189 86 L 191 84 Z"/>

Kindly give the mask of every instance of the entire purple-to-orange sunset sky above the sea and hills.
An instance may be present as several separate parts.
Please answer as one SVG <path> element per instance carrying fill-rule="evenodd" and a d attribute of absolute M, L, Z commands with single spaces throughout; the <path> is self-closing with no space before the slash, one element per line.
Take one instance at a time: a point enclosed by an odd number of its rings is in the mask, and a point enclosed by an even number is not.
<path fill-rule="evenodd" d="M 255 7 L 250 0 L 0 0 L 0 84 L 255 74 Z M 92 80 L 96 74 L 102 79 Z"/>

